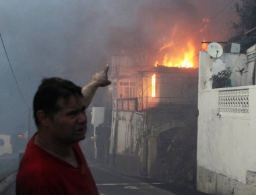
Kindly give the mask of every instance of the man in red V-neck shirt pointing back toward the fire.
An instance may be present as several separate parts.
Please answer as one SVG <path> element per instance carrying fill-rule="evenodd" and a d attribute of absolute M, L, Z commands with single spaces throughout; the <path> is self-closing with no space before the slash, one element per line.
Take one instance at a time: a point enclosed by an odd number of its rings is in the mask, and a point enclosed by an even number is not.
<path fill-rule="evenodd" d="M 38 131 L 20 163 L 18 195 L 98 195 L 78 142 L 96 89 L 110 85 L 107 72 L 108 65 L 83 88 L 57 77 L 42 80 L 33 101 Z"/>

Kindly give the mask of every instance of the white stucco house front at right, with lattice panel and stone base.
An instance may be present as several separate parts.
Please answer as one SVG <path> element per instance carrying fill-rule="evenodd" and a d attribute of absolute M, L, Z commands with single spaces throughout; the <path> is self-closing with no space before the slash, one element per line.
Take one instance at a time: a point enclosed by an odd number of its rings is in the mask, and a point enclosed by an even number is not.
<path fill-rule="evenodd" d="M 238 66 L 250 69 L 248 54 L 224 54 L 233 86 L 240 85 Z M 210 194 L 256 194 L 256 86 L 253 73 L 240 87 L 211 89 L 216 59 L 199 56 L 197 190 Z"/>

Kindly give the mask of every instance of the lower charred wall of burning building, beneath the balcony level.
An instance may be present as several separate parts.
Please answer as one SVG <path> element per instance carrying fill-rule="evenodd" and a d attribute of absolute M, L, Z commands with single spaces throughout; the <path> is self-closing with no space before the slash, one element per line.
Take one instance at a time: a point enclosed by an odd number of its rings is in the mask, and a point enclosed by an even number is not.
<path fill-rule="evenodd" d="M 145 121 L 138 117 L 135 120 L 137 112 L 117 112 L 108 165 L 127 175 L 195 188 L 197 113 L 195 105 L 176 104 L 160 104 L 146 110 Z M 158 130 L 166 123 L 167 128 Z M 138 130 L 134 145 L 129 137 L 131 129 Z M 152 143 L 156 147 L 150 147 Z M 156 158 L 152 157 L 155 154 Z"/>

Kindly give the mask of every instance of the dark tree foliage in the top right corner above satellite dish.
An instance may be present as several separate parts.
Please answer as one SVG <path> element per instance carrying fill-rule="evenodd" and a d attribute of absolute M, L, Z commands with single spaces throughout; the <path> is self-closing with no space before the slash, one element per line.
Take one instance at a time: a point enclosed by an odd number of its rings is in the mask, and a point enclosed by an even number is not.
<path fill-rule="evenodd" d="M 240 21 L 233 23 L 232 27 L 238 34 L 256 27 L 256 0 L 241 0 L 235 8 Z"/>

